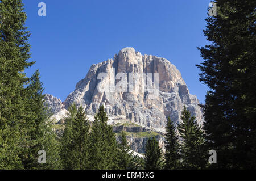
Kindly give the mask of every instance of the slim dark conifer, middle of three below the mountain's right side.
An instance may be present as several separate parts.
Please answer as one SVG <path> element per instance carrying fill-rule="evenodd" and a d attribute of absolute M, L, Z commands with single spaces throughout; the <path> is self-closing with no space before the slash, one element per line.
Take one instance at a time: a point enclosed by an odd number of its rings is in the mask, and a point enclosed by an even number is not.
<path fill-rule="evenodd" d="M 166 125 L 166 134 L 164 140 L 164 147 L 166 148 L 165 157 L 165 169 L 179 169 L 179 137 L 176 135 L 176 129 L 174 123 L 168 117 Z"/>

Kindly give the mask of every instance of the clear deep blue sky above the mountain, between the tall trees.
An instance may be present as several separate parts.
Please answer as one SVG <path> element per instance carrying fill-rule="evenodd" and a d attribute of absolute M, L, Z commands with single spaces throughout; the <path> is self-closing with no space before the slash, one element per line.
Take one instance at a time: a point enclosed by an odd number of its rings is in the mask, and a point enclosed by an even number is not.
<path fill-rule="evenodd" d="M 38 16 L 38 3 L 47 15 Z M 203 35 L 210 1 L 171 0 L 23 0 L 31 31 L 30 76 L 40 70 L 45 93 L 65 100 L 90 65 L 113 58 L 124 47 L 167 58 L 204 103 L 207 86 L 199 82 L 203 59 L 196 47 Z"/>

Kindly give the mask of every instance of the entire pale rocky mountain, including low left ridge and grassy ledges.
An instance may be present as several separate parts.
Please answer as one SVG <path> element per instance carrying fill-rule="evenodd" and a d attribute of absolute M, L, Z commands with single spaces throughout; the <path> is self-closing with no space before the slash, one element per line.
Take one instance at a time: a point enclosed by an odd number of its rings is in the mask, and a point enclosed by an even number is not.
<path fill-rule="evenodd" d="M 179 123 L 184 105 L 203 123 L 199 100 L 189 94 L 175 65 L 162 57 L 143 56 L 134 48 L 123 48 L 113 59 L 93 64 L 63 103 L 46 95 L 56 123 L 73 103 L 84 107 L 92 121 L 103 104 L 117 136 L 126 131 L 131 148 L 139 153 L 150 136 L 163 147 L 167 118 Z"/>

